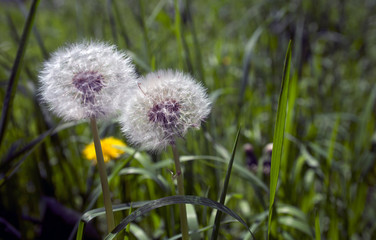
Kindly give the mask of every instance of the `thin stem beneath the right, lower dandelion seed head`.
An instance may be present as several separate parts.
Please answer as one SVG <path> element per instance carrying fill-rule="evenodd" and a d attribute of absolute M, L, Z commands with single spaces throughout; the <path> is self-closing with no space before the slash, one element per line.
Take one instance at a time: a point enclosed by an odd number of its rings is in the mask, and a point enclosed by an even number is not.
<path fill-rule="evenodd" d="M 179 153 L 176 149 L 175 144 L 171 145 L 172 153 L 174 155 L 175 161 L 175 171 L 178 181 L 178 195 L 184 195 L 184 177 L 183 172 L 181 171 L 180 167 L 180 160 L 179 160 Z M 185 208 L 185 204 L 179 204 L 180 209 L 180 225 L 181 225 L 181 233 L 183 236 L 183 240 L 188 240 L 188 221 L 187 221 L 187 210 Z"/>

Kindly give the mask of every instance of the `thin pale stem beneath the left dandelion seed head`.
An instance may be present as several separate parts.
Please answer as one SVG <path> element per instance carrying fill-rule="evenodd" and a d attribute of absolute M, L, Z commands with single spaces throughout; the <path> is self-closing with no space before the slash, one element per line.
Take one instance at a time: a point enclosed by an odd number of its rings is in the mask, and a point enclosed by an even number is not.
<path fill-rule="evenodd" d="M 114 214 L 112 212 L 112 203 L 110 189 L 108 187 L 106 166 L 104 164 L 101 142 L 98 135 L 97 121 L 95 118 L 90 119 L 91 131 L 93 132 L 95 153 L 97 155 L 97 165 L 101 179 L 104 209 L 106 211 L 107 231 L 110 233 L 115 228 Z"/>

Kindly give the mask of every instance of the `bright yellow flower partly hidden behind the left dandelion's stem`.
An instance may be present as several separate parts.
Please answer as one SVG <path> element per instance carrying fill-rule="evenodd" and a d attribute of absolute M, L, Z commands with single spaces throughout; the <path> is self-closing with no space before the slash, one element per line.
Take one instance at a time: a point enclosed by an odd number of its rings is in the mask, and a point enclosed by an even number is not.
<path fill-rule="evenodd" d="M 121 150 L 121 147 L 125 147 L 126 144 L 120 139 L 114 137 L 108 137 L 101 140 L 103 158 L 105 162 L 110 161 L 111 159 L 118 158 L 121 154 L 124 153 L 124 150 Z M 94 142 L 86 145 L 85 149 L 82 151 L 82 154 L 87 160 L 97 162 L 97 155 L 95 153 Z"/>

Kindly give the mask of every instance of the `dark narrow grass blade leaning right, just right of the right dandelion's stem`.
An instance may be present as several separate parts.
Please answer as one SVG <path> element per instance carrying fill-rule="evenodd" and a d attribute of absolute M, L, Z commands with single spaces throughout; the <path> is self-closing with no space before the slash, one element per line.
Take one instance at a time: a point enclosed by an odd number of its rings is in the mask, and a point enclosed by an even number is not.
<path fill-rule="evenodd" d="M 232 149 L 231 159 L 230 159 L 230 162 L 228 163 L 226 178 L 225 178 L 225 182 L 223 184 L 223 190 L 222 190 L 222 193 L 221 193 L 221 198 L 219 200 L 219 202 L 221 204 L 225 203 L 228 183 L 230 182 L 232 164 L 234 163 L 235 151 L 236 151 L 236 147 L 238 146 L 239 134 L 240 134 L 240 128 L 238 129 L 238 132 L 236 134 L 236 139 L 235 139 L 234 147 Z M 221 216 L 222 216 L 222 212 L 218 211 L 216 216 L 215 216 L 214 227 L 213 227 L 211 239 L 217 239 L 218 238 L 219 224 L 220 224 L 220 221 L 221 221 Z"/>

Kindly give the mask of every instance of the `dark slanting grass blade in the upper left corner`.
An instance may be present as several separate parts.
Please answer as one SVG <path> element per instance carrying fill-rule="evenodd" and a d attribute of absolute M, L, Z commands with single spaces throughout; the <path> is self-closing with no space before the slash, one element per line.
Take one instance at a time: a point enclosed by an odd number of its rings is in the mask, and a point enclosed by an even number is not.
<path fill-rule="evenodd" d="M 4 138 L 5 129 L 8 124 L 9 112 L 12 109 L 13 99 L 14 99 L 14 96 L 16 95 L 16 89 L 18 85 L 20 72 L 21 72 L 23 58 L 24 58 L 25 51 L 26 51 L 26 45 L 29 40 L 30 32 L 34 23 L 35 13 L 37 11 L 39 2 L 40 0 L 34 0 L 31 5 L 29 15 L 26 20 L 25 28 L 22 32 L 21 42 L 17 50 L 17 56 L 12 67 L 11 75 L 9 77 L 8 87 L 5 93 L 3 110 L 1 113 L 1 119 L 0 119 L 0 146 Z"/>

